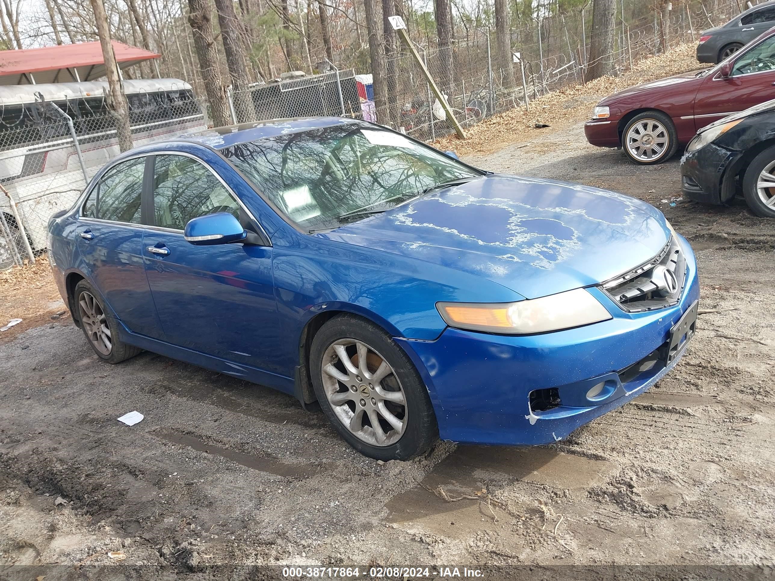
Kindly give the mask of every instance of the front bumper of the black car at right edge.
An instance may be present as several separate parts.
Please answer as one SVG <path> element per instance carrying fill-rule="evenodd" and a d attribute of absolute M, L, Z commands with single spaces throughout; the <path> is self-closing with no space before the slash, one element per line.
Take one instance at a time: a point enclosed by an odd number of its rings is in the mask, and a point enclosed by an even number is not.
<path fill-rule="evenodd" d="M 735 196 L 735 175 L 742 152 L 715 143 L 685 153 L 680 162 L 681 191 L 703 204 L 724 204 Z"/>

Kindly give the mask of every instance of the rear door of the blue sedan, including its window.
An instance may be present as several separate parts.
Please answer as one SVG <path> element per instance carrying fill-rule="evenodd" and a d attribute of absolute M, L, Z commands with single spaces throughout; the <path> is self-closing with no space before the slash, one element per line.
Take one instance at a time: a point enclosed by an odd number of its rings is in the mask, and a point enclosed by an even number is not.
<path fill-rule="evenodd" d="M 161 326 L 143 268 L 146 158 L 117 163 L 91 188 L 78 218 L 84 273 L 129 331 L 157 337 Z"/>

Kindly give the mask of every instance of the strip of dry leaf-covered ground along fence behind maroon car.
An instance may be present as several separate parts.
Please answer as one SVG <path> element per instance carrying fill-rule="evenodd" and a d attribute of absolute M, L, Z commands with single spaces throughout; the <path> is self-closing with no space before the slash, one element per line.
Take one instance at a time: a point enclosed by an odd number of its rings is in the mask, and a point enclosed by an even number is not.
<path fill-rule="evenodd" d="M 432 145 L 439 150 L 454 150 L 460 156 L 493 153 L 536 136 L 536 132 L 541 131 L 533 127 L 536 120 L 555 129 L 584 121 L 589 119 L 594 103 L 606 95 L 646 81 L 703 68 L 695 57 L 696 47 L 694 43 L 682 44 L 658 57 L 642 60 L 620 77 L 601 77 L 585 85 L 572 85 L 547 93 L 530 102 L 529 112 L 520 107 L 494 115 L 467 129 L 467 139 L 459 139 L 453 134 L 436 139 Z"/>

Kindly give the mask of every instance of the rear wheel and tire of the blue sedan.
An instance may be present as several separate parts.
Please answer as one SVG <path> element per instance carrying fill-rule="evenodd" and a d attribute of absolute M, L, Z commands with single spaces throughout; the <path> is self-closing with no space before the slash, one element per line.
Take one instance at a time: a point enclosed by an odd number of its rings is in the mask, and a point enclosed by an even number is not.
<path fill-rule="evenodd" d="M 75 285 L 75 308 L 86 340 L 100 359 L 121 363 L 136 356 L 142 349 L 119 339 L 119 329 L 108 317 L 102 299 L 85 280 Z"/>

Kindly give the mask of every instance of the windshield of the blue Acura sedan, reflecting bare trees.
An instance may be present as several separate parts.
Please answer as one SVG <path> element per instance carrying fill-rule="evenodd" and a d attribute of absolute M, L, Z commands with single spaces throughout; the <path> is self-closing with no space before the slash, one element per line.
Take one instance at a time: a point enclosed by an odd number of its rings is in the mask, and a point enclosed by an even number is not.
<path fill-rule="evenodd" d="M 307 230 L 335 228 L 483 175 L 399 133 L 355 123 L 265 137 L 220 153 Z"/>

